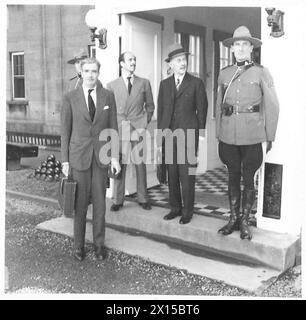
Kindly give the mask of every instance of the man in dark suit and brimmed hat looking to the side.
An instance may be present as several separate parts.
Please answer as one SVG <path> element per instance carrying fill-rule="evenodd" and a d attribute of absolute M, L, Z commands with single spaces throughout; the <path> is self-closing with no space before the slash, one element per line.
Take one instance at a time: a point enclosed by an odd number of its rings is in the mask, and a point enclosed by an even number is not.
<path fill-rule="evenodd" d="M 208 104 L 203 81 L 187 72 L 188 54 L 181 45 L 175 44 L 170 48 L 166 62 L 173 75 L 160 83 L 157 110 L 158 129 L 164 132 L 168 129 L 171 139 L 175 131 L 183 133 L 183 138 L 173 139 L 173 151 L 169 150 L 169 144 L 167 147 L 169 134 L 165 136 L 171 211 L 164 219 L 181 216 L 180 224 L 189 223 L 193 215 L 195 172 L 191 171 L 196 163 L 192 163 L 194 161 L 190 158 L 194 160 L 196 156 L 199 130 L 204 132 Z M 172 163 L 167 162 L 169 153 L 173 154 Z"/>

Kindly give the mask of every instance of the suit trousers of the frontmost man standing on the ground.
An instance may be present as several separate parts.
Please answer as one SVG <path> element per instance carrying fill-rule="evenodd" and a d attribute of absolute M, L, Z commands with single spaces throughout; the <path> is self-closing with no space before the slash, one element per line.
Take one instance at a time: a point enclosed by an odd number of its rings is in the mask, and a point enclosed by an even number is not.
<path fill-rule="evenodd" d="M 79 171 L 72 168 L 72 177 L 77 182 L 74 247 L 80 249 L 85 244 L 86 215 L 91 196 L 93 206 L 92 233 L 93 243 L 97 248 L 104 245 L 105 240 L 105 195 L 107 186 L 107 168 L 98 166 L 93 156 L 91 166 Z"/>

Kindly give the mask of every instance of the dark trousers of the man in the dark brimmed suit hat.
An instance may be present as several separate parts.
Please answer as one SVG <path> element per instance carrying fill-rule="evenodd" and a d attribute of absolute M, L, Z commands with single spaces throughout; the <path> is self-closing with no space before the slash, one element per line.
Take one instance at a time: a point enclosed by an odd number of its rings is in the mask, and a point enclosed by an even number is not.
<path fill-rule="evenodd" d="M 187 159 L 185 161 L 187 161 Z M 191 166 L 188 163 L 178 164 L 177 162 L 177 141 L 174 139 L 173 164 L 167 165 L 170 208 L 171 211 L 174 212 L 181 211 L 184 218 L 191 218 L 194 209 L 195 175 L 189 174 L 189 168 L 191 168 Z"/>

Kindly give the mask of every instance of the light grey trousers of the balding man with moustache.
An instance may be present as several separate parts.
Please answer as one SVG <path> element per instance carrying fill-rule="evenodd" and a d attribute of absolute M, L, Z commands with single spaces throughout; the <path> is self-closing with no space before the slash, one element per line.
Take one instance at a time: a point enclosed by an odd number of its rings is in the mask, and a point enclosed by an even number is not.
<path fill-rule="evenodd" d="M 132 150 L 138 143 L 139 143 L 138 141 L 131 141 Z M 125 159 L 125 157 L 123 157 L 123 159 Z M 114 179 L 113 198 L 114 198 L 115 204 L 123 204 L 124 202 L 126 168 L 127 168 L 127 165 L 122 164 L 121 178 Z M 136 169 L 136 183 L 137 183 L 137 201 L 139 203 L 145 203 L 148 201 L 147 167 L 145 163 L 140 163 L 140 164 L 135 164 L 135 169 Z"/>

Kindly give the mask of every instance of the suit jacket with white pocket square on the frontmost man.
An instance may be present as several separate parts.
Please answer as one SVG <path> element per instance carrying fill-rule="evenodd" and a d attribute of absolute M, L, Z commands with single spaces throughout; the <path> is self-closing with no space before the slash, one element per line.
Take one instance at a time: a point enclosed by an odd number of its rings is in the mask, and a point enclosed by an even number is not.
<path fill-rule="evenodd" d="M 82 86 L 68 92 L 61 109 L 61 154 L 62 162 L 69 162 L 76 170 L 86 170 L 95 156 L 100 167 L 99 152 L 106 141 L 99 135 L 104 129 L 118 131 L 116 103 L 112 92 L 97 84 L 97 102 L 94 120 L 91 121 Z M 87 97 L 86 97 L 87 98 Z M 118 138 L 118 136 L 117 136 Z M 111 140 L 116 157 L 116 137 Z M 112 155 L 113 157 L 113 155 Z"/>

